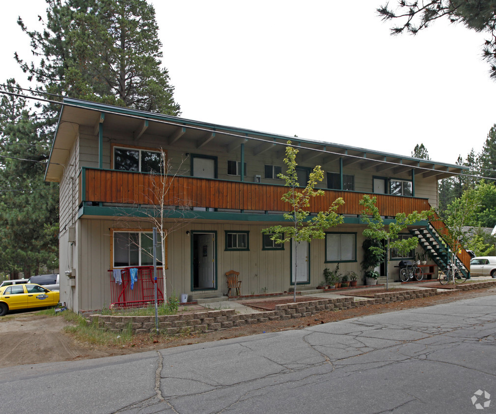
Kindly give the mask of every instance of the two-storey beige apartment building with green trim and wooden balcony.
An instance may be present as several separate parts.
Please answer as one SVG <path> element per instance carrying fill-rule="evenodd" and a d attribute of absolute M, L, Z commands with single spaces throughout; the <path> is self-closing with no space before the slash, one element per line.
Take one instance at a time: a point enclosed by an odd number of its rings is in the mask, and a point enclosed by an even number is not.
<path fill-rule="evenodd" d="M 326 139 L 322 131 L 322 140 Z M 344 223 L 324 240 L 302 244 L 294 274 L 295 246 L 274 244 L 262 229 L 283 223 L 287 191 L 277 175 L 284 168 L 288 140 L 299 147 L 300 183 L 321 165 L 325 192 L 310 208 L 327 210 L 338 197 Z M 164 151 L 173 170 L 167 222 L 182 223 L 168 236 L 168 292 L 192 297 L 227 293 L 225 272 L 242 279 L 241 294 L 288 291 L 294 284 L 315 287 L 324 267 L 361 273 L 361 208 L 364 194 L 377 197 L 380 213 L 437 206 L 437 180 L 464 167 L 387 154 L 348 145 L 214 125 L 123 107 L 64 99 L 45 179 L 60 183 L 61 300 L 73 310 L 98 310 L 130 298 L 126 283 L 116 288 L 113 271 L 146 269 L 156 200 L 152 188 Z M 183 162 L 186 160 L 186 162 Z M 417 223 L 402 237 L 418 237 L 434 263 L 446 262 L 442 224 Z M 139 248 L 138 248 L 139 246 Z M 401 259 L 391 253 L 390 280 Z M 407 258 L 413 259 L 413 257 Z M 465 252 L 459 259 L 469 270 Z M 143 270 L 144 272 L 144 270 Z M 123 277 L 127 273 L 123 273 Z M 141 274 L 141 273 L 140 273 Z M 144 273 L 143 273 L 144 274 Z M 382 269 L 384 274 L 384 269 Z M 145 278 L 149 276 L 145 275 Z M 117 289 L 117 290 L 116 290 Z M 119 290 L 120 289 L 120 290 Z"/>

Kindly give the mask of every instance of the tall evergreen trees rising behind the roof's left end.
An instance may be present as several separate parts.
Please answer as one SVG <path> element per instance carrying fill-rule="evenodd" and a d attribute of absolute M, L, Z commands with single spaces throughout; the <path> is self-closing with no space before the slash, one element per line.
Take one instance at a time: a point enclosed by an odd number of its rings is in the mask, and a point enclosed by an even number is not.
<path fill-rule="evenodd" d="M 28 34 L 37 62 L 16 59 L 46 92 L 178 115 L 161 67 L 155 9 L 146 0 L 45 0 L 43 32 Z M 41 19 L 41 18 L 40 18 Z"/>

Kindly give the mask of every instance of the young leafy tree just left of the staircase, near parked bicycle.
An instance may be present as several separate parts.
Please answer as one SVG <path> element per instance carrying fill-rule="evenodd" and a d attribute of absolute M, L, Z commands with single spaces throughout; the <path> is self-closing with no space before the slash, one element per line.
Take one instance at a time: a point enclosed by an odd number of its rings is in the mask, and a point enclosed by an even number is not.
<path fill-rule="evenodd" d="M 359 204 L 363 207 L 362 209 L 362 221 L 367 224 L 367 228 L 363 231 L 363 235 L 370 239 L 377 240 L 379 242 L 384 241 L 386 245 L 385 257 L 386 257 L 386 289 L 388 288 L 388 263 L 389 263 L 389 251 L 391 249 L 397 250 L 402 256 L 407 256 L 417 245 L 419 240 L 416 237 L 411 237 L 409 239 L 400 239 L 400 233 L 406 229 L 409 225 L 415 224 L 418 221 L 426 220 L 430 211 L 413 211 L 410 214 L 398 213 L 395 216 L 395 220 L 389 224 L 384 222 L 384 219 L 380 215 L 379 207 L 375 204 L 377 202 L 377 197 L 370 197 L 369 195 L 364 195 Z M 378 249 L 382 250 L 381 247 L 371 247 L 374 252 Z"/>

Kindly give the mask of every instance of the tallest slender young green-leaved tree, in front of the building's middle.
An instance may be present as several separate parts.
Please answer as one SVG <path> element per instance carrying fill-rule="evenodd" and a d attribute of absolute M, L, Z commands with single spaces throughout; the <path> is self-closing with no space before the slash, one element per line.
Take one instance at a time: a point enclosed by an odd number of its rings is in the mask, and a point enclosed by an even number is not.
<path fill-rule="evenodd" d="M 332 205 L 327 211 L 319 211 L 316 216 L 309 218 L 310 200 L 317 196 L 323 196 L 322 190 L 314 190 L 317 183 L 322 181 L 324 173 L 320 165 L 316 165 L 313 171 L 310 172 L 309 180 L 305 188 L 300 187 L 296 167 L 296 155 L 298 149 L 291 145 L 291 141 L 287 142 L 286 157 L 284 163 L 287 166 L 286 174 L 278 174 L 278 177 L 285 181 L 289 191 L 281 198 L 282 201 L 291 205 L 291 212 L 284 213 L 284 218 L 292 222 L 291 225 L 276 225 L 262 230 L 264 234 L 272 234 L 271 240 L 277 244 L 283 244 L 290 240 L 295 243 L 295 252 L 298 249 L 299 242 L 310 243 L 312 239 L 323 239 L 325 237 L 324 230 L 335 227 L 343 222 L 343 217 L 336 211 L 339 206 L 344 204 L 344 200 L 340 197 L 332 202 Z M 298 270 L 298 255 L 295 254 L 295 288 L 294 301 L 296 302 L 296 275 Z"/>

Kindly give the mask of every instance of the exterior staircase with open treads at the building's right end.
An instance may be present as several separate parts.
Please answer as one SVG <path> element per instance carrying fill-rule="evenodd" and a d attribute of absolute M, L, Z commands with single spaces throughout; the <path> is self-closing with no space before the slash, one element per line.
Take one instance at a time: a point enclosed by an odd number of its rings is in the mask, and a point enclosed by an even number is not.
<path fill-rule="evenodd" d="M 410 233 L 417 236 L 419 244 L 428 253 L 440 270 L 447 270 L 451 261 L 451 251 L 444 239 L 439 235 L 433 223 L 429 222 L 426 227 L 410 229 Z M 470 277 L 470 271 L 463 262 L 456 257 L 456 266 L 465 277 Z"/>

